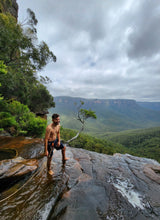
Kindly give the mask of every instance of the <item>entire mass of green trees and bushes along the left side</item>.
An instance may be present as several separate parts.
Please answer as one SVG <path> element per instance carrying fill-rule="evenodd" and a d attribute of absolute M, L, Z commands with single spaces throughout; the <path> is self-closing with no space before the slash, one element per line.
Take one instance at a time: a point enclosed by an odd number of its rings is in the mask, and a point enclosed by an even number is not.
<path fill-rule="evenodd" d="M 22 25 L 7 12 L 10 6 L 10 0 L 0 2 L 0 131 L 42 136 L 46 120 L 33 112 L 53 107 L 54 101 L 36 73 L 56 57 L 45 42 L 38 43 L 34 12 L 27 10 Z"/>

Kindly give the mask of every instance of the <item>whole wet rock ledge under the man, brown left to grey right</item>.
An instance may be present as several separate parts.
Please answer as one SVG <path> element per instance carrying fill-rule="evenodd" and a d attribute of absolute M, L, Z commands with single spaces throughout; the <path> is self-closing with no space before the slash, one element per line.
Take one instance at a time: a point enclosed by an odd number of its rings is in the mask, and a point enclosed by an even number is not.
<path fill-rule="evenodd" d="M 36 157 L 44 148 L 32 143 L 24 146 L 24 152 L 21 148 L 20 156 L 27 157 L 27 146 L 29 156 L 33 152 Z M 53 176 L 46 172 L 46 157 L 37 157 L 37 171 L 18 191 L 13 188 L 13 194 L 0 201 L 0 218 L 160 219 L 158 162 L 70 147 L 66 154 L 70 159 L 62 164 L 61 152 L 54 152 Z"/>

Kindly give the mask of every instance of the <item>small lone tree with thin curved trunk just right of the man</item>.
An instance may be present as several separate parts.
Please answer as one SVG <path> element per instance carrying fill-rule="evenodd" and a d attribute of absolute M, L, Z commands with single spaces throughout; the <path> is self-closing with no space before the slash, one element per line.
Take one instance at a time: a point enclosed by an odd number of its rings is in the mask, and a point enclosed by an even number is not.
<path fill-rule="evenodd" d="M 77 116 L 76 116 L 77 120 L 81 123 L 81 129 L 80 131 L 77 132 L 77 134 L 73 138 L 68 140 L 67 143 L 70 143 L 71 141 L 75 140 L 80 135 L 80 133 L 84 130 L 85 123 L 88 118 L 93 118 L 93 119 L 97 118 L 94 111 L 92 111 L 91 109 L 89 110 L 83 109 L 81 108 L 82 105 L 84 105 L 84 102 L 80 101 L 80 105 L 77 107 Z"/>

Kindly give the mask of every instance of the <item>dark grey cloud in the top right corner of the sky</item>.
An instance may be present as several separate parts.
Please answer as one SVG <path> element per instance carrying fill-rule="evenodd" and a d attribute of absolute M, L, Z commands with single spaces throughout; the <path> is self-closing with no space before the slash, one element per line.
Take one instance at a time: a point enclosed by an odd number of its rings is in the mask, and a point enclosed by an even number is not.
<path fill-rule="evenodd" d="M 160 2 L 143 0 L 132 16 L 128 56 L 137 59 L 159 53 Z"/>

